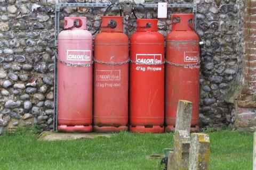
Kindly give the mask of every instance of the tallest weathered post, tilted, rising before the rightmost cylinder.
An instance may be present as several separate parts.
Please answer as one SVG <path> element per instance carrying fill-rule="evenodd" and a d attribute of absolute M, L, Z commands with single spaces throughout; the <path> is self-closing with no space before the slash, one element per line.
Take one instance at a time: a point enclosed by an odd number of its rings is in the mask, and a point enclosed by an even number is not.
<path fill-rule="evenodd" d="M 179 100 L 175 132 L 183 130 L 190 132 L 193 103 L 187 100 Z"/>

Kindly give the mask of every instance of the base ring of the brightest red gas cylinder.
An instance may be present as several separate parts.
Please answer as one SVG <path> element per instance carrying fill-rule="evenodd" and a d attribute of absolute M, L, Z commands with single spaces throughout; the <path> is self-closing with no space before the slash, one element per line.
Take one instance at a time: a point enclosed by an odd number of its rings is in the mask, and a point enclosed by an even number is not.
<path fill-rule="evenodd" d="M 150 128 L 146 128 L 145 126 L 130 126 L 131 132 L 138 133 L 164 133 L 164 126 L 154 125 Z"/>

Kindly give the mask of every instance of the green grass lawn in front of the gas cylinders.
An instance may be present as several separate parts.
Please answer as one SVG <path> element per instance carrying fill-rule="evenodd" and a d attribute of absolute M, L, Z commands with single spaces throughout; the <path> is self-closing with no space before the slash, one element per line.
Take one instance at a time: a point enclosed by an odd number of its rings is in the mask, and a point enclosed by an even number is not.
<path fill-rule="evenodd" d="M 146 156 L 172 147 L 172 135 L 121 132 L 111 138 L 46 142 L 19 130 L 0 137 L 0 169 L 161 169 L 161 159 Z M 252 169 L 253 133 L 213 132 L 210 141 L 210 169 Z"/>

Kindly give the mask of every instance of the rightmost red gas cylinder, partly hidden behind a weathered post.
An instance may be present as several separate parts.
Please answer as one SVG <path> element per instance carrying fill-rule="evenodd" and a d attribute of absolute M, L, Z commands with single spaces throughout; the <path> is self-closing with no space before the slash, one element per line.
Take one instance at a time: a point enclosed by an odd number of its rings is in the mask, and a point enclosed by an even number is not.
<path fill-rule="evenodd" d="M 199 38 L 193 14 L 172 14 L 172 31 L 166 37 L 165 124 L 173 131 L 179 100 L 193 102 L 191 130 L 199 121 Z"/>

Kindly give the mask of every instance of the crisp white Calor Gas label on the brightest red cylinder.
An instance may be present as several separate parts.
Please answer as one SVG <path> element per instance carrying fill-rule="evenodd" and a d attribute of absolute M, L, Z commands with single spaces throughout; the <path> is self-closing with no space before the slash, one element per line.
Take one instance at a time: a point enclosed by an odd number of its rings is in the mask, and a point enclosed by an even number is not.
<path fill-rule="evenodd" d="M 136 64 L 162 63 L 162 54 L 136 54 Z"/>

